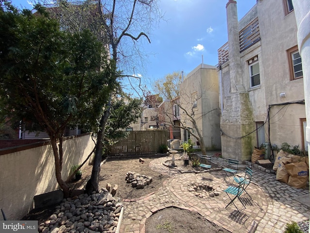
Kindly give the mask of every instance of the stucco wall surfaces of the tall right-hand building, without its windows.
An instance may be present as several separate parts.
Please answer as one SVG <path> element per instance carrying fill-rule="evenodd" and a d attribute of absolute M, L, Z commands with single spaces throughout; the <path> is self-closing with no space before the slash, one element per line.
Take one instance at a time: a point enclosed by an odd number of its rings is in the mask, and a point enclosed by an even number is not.
<path fill-rule="evenodd" d="M 227 135 L 241 137 L 252 132 L 255 130 L 255 122 L 265 122 L 267 120 L 269 105 L 277 105 L 273 106 L 270 112 L 270 117 L 272 117 L 270 120 L 271 144 L 280 147 L 283 142 L 287 142 L 290 145 L 301 146 L 302 126 L 300 119 L 306 117 L 305 105 L 286 105 L 286 103 L 304 100 L 303 78 L 290 80 L 289 59 L 287 56 L 287 50 L 297 45 L 297 27 L 294 14 L 293 11 L 285 16 L 283 1 L 257 1 L 257 4 L 250 12 L 239 21 L 240 30 L 246 26 L 246 22 L 251 21 L 251 18 L 258 17 L 261 40 L 239 54 L 236 53 L 231 56 L 230 53 L 229 62 L 221 66 L 221 88 L 224 97 L 221 128 Z M 230 20 L 228 19 L 228 21 Z M 261 84 L 250 88 L 248 61 L 254 56 L 258 56 Z M 242 73 L 241 84 L 244 86 L 244 91 L 248 93 L 249 102 L 246 105 L 240 101 L 241 98 L 238 99 L 239 96 L 233 96 L 232 93 L 233 75 L 235 74 L 233 69 L 238 67 L 232 64 L 235 60 L 239 62 L 239 57 Z M 304 61 L 302 63 L 304 65 Z M 239 91 L 239 93 L 242 92 L 242 90 Z M 285 93 L 285 97 L 280 97 L 280 93 Z M 248 107 L 242 109 L 244 106 Z M 240 124 L 239 130 L 236 130 L 235 124 Z M 266 142 L 268 142 L 268 136 L 267 121 L 265 124 Z M 242 145 L 242 149 L 226 149 L 225 146 L 231 146 L 232 139 L 223 135 L 223 157 L 234 156 L 235 153 L 239 154 L 239 159 L 243 160 L 248 157 L 248 145 L 251 144 L 252 149 L 254 146 L 259 146 L 257 145 L 256 132 L 251 133 L 248 138 L 243 138 L 238 143 Z"/>

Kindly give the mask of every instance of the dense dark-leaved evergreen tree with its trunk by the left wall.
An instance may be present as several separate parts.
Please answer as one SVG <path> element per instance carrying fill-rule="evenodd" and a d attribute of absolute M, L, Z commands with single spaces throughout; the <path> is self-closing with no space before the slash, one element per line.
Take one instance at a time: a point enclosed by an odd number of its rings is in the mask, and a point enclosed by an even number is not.
<path fill-rule="evenodd" d="M 36 17 L 9 2 L 1 4 L 0 114 L 13 123 L 34 122 L 48 133 L 56 179 L 67 197 L 70 190 L 62 180 L 64 129 L 96 124 L 118 85 L 118 74 L 92 33 L 61 31 L 56 20 L 38 10 L 41 16 Z"/>

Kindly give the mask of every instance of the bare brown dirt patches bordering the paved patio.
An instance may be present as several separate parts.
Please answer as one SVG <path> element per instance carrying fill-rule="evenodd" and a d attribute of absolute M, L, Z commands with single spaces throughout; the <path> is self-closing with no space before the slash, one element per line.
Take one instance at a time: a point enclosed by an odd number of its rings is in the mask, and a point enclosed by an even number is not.
<path fill-rule="evenodd" d="M 109 159 L 101 166 L 99 185 L 100 187 L 106 187 L 107 183 L 111 184 L 111 187 L 118 185 L 115 197 L 123 199 L 138 199 L 147 194 L 155 192 L 162 187 L 163 182 L 169 177 L 163 175 L 149 167 L 151 161 L 156 158 L 141 156 L 144 160 L 143 163 L 139 161 L 139 157 L 131 159 Z M 169 158 L 167 158 L 168 160 Z M 178 167 L 183 166 L 184 169 L 193 170 L 194 168 L 183 165 L 183 160 L 176 160 Z M 215 165 L 214 165 L 215 166 Z M 133 188 L 130 183 L 126 183 L 125 176 L 128 171 L 139 173 L 140 175 L 151 176 L 153 182 L 150 185 L 146 185 L 143 189 Z M 82 179 L 70 183 L 71 187 L 79 188 L 81 185 L 86 185 L 87 180 L 90 178 L 92 172 L 92 166 L 82 167 Z M 25 219 L 28 220 L 45 220 L 53 213 L 53 207 L 39 212 L 33 212 Z M 161 210 L 146 221 L 146 233 L 228 233 L 223 228 L 219 228 L 213 223 L 207 221 L 198 213 L 178 209 L 168 208 Z"/>

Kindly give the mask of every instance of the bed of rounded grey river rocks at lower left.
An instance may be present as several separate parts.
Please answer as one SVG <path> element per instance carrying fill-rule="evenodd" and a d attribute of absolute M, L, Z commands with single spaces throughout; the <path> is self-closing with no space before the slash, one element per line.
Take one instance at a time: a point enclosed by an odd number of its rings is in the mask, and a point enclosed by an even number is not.
<path fill-rule="evenodd" d="M 55 212 L 39 223 L 39 233 L 115 233 L 123 203 L 105 188 L 88 196 L 63 199 Z"/>

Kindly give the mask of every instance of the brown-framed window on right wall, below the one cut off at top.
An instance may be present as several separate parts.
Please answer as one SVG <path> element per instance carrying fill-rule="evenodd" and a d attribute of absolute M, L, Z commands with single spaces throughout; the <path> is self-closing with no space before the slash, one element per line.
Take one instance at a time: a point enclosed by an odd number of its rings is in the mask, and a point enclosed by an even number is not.
<path fill-rule="evenodd" d="M 287 56 L 290 67 L 290 79 L 295 80 L 302 78 L 303 77 L 302 64 L 301 64 L 301 57 L 298 52 L 298 47 L 294 46 L 293 48 L 287 50 Z"/>

